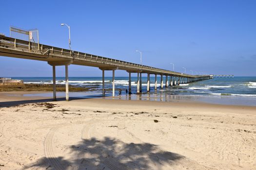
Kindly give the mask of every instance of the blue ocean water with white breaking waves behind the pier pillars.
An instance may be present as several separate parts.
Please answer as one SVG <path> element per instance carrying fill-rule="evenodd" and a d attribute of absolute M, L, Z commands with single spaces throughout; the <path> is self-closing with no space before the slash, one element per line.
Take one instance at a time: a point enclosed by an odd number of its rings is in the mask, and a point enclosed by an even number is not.
<path fill-rule="evenodd" d="M 34 84 L 52 84 L 52 77 L 12 77 L 13 79 L 21 79 L 24 83 Z M 118 95 L 118 90 L 122 90 L 125 94 L 125 89 L 128 89 L 128 77 L 116 77 L 115 89 Z M 155 90 L 155 76 L 150 78 L 151 91 L 147 92 L 147 77 L 142 77 L 142 95 L 139 99 L 159 100 L 164 96 L 163 101 L 169 101 L 172 96 L 178 96 L 181 99 L 192 99 L 197 101 L 208 101 L 212 103 L 225 104 L 242 104 L 256 105 L 256 77 L 234 77 L 234 78 L 216 78 L 198 81 L 194 83 L 169 86 L 160 89 L 160 77 L 158 77 L 158 90 Z M 163 77 L 165 85 L 165 76 Z M 170 81 L 170 79 L 168 80 Z M 57 77 L 57 84 L 65 84 L 64 77 Z M 89 96 L 100 95 L 102 93 L 102 78 L 101 77 L 69 77 L 70 85 L 85 86 L 94 89 L 88 93 Z M 105 77 L 106 96 L 112 95 L 112 77 Z M 138 99 L 137 92 L 137 77 L 132 77 L 132 93 L 135 95 L 131 99 Z M 86 97 L 87 93 L 74 93 L 80 97 Z M 71 95 L 72 96 L 72 93 Z M 228 102 L 227 102 L 228 101 Z"/>

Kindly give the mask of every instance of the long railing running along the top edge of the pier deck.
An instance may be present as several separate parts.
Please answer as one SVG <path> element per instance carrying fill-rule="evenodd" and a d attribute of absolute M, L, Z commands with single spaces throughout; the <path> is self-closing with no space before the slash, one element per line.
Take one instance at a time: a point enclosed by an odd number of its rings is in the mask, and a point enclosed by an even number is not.
<path fill-rule="evenodd" d="M 206 77 L 209 75 L 189 75 L 189 74 L 183 74 L 175 71 L 169 71 L 166 69 L 161 68 L 154 68 L 150 66 L 145 65 L 139 65 L 131 62 L 121 61 L 117 59 L 112 59 L 108 57 L 102 57 L 98 55 L 93 55 L 89 53 L 79 52 L 79 51 L 70 51 L 67 49 L 61 49 L 57 47 L 52 47 L 48 45 L 39 44 L 39 50 L 33 50 L 32 43 L 29 41 L 24 41 L 20 39 L 15 39 L 11 37 L 6 37 L 3 35 L 0 35 L 0 47 L 5 48 L 11 48 L 14 50 L 22 49 L 22 51 L 32 52 L 39 55 L 46 55 L 50 52 L 52 55 L 59 55 L 59 57 L 69 58 L 69 59 L 78 59 L 78 60 L 85 60 L 90 61 L 94 63 L 101 63 L 101 64 L 107 64 L 115 67 L 125 67 L 127 70 L 130 69 L 137 69 L 144 72 L 154 72 L 159 73 L 163 75 L 173 75 L 173 76 L 179 76 L 179 77 L 191 77 L 191 78 L 197 78 L 197 77 Z M 153 74 L 154 74 L 153 73 Z"/>

